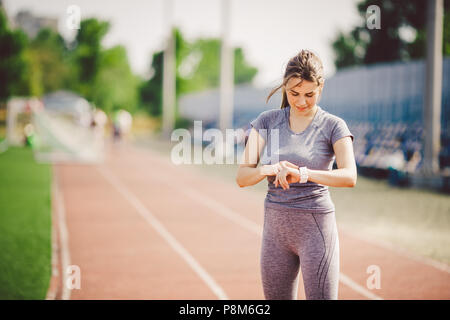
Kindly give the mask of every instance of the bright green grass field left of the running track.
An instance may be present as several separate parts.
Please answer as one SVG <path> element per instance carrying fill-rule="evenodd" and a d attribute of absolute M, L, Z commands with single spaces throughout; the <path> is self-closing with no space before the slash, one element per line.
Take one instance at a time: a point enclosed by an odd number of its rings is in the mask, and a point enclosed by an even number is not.
<path fill-rule="evenodd" d="M 45 299 L 51 273 L 51 170 L 31 149 L 0 154 L 0 299 Z"/>

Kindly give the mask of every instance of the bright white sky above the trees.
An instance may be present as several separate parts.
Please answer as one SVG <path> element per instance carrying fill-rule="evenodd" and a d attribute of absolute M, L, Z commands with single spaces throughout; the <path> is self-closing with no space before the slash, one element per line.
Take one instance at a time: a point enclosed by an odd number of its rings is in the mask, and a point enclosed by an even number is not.
<path fill-rule="evenodd" d="M 111 23 L 105 47 L 124 45 L 132 70 L 149 76 L 153 52 L 164 47 L 170 23 L 188 40 L 220 37 L 222 0 L 3 0 L 10 17 L 21 9 L 59 19 L 67 38 L 70 5 L 81 19 L 96 17 Z M 331 42 L 338 30 L 349 31 L 360 21 L 358 0 L 229 0 L 230 44 L 242 47 L 249 64 L 258 68 L 257 87 L 273 87 L 282 79 L 288 60 L 301 49 L 316 52 L 325 76 L 335 72 Z M 168 13 L 170 12 L 170 14 Z"/>

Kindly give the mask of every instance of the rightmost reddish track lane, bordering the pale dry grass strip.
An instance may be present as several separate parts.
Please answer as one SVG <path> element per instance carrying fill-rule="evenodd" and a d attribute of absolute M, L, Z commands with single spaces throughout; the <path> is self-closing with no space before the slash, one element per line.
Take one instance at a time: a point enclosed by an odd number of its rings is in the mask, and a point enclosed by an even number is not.
<path fill-rule="evenodd" d="M 201 192 L 208 197 L 221 201 L 229 208 L 241 208 L 234 210 L 246 219 L 254 221 L 262 226 L 263 198 L 252 192 L 245 192 L 239 187 L 230 186 L 228 183 L 199 177 L 198 174 L 188 172 L 182 167 L 172 165 L 157 154 L 148 150 L 139 150 L 139 157 L 146 159 L 147 164 L 160 166 L 174 170 L 177 181 L 183 181 L 186 185 Z M 130 152 L 128 154 L 136 154 Z M 150 158 L 146 157 L 151 154 Z M 136 159 L 139 162 L 139 159 Z M 168 170 L 168 169 L 165 169 Z M 244 191 L 244 192 L 243 192 Z M 224 197 L 224 195 L 227 195 Z M 258 201 L 258 202 L 255 202 Z M 356 284 L 367 288 L 367 279 L 370 274 L 367 268 L 371 265 L 378 266 L 381 271 L 381 289 L 369 290 L 374 295 L 385 299 L 448 299 L 450 298 L 450 274 L 433 266 L 411 259 L 398 252 L 378 246 L 374 243 L 350 234 L 347 230 L 339 229 L 341 240 L 341 272 L 344 276 L 354 280 Z M 355 294 L 347 292 L 348 286 L 340 285 L 340 298 L 357 299 Z M 302 290 L 299 290 L 300 292 Z M 354 291 L 354 290 L 351 290 Z M 354 292 L 353 292 L 354 293 Z M 347 295 L 350 294 L 350 295 Z M 361 298 L 359 296 L 359 298 Z M 367 298 L 367 296 L 365 297 Z"/>

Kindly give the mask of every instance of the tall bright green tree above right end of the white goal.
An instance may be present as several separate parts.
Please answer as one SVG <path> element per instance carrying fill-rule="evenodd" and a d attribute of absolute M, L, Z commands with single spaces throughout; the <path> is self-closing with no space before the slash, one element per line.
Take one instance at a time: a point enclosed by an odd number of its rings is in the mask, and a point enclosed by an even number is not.
<path fill-rule="evenodd" d="M 95 18 L 81 21 L 68 64 L 76 75 L 70 86 L 108 113 L 117 109 L 134 112 L 139 105 L 139 80 L 123 46 L 102 48 L 109 26 Z"/>

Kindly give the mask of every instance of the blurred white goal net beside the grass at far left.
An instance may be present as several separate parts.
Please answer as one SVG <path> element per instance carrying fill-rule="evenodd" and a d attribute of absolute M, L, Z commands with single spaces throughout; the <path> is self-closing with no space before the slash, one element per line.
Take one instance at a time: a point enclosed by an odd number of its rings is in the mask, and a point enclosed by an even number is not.
<path fill-rule="evenodd" d="M 8 103 L 7 140 L 9 145 L 31 141 L 38 162 L 99 163 L 104 158 L 103 127 L 90 123 L 63 108 L 47 108 L 39 100 L 14 99 Z"/>

